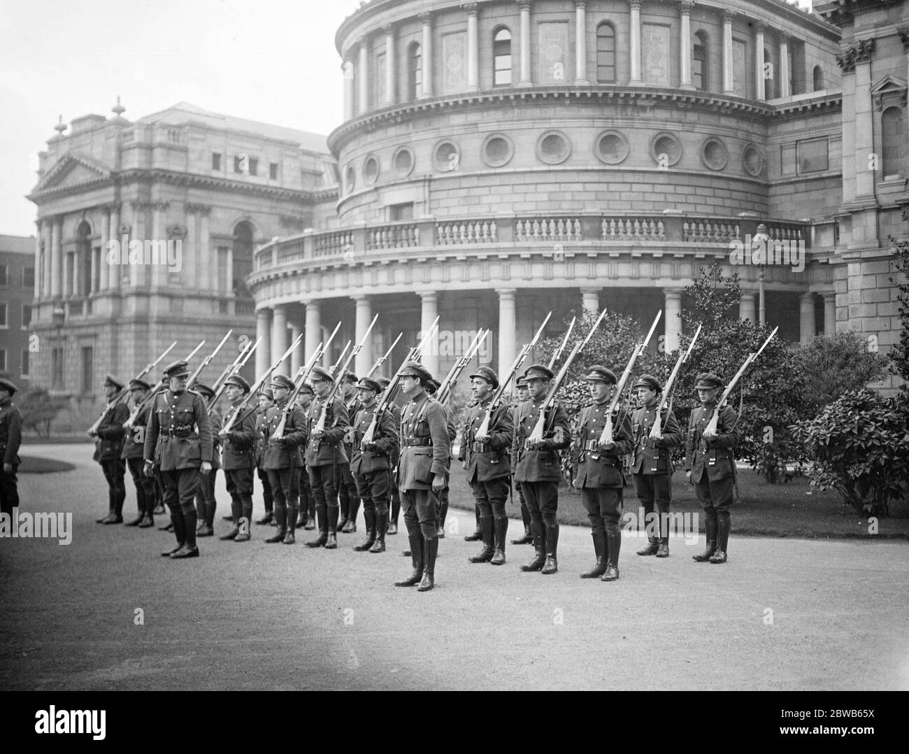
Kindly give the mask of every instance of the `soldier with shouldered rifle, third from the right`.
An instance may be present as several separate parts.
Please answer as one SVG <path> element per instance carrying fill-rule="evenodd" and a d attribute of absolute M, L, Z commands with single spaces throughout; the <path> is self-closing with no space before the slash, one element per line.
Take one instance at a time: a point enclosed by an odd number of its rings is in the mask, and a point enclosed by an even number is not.
<path fill-rule="evenodd" d="M 634 447 L 631 419 L 621 407 L 613 415 L 613 442 L 600 443 L 609 414 L 609 404 L 615 387 L 615 375 L 610 369 L 594 364 L 584 377 L 590 383 L 594 402 L 581 409 L 578 417 L 578 437 L 574 450 L 576 468 L 574 487 L 581 490 L 581 502 L 590 519 L 594 539 L 596 565 L 581 578 L 619 578 L 619 552 L 622 549 L 622 493 L 625 486 L 622 466 L 624 457 Z"/>

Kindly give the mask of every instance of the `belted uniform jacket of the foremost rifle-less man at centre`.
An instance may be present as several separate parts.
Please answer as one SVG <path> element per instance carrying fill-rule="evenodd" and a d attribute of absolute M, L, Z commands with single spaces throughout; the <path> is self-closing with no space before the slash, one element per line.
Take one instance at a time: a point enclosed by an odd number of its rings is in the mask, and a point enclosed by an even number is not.
<path fill-rule="evenodd" d="M 436 474 L 445 476 L 451 461 L 451 440 L 445 408 L 425 393 L 401 412 L 399 489 L 430 489 Z"/>

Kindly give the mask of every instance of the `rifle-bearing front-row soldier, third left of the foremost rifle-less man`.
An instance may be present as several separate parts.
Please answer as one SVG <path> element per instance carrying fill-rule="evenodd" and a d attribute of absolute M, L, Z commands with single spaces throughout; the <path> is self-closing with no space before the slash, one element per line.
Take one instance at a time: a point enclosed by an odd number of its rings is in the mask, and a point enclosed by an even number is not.
<path fill-rule="evenodd" d="M 265 542 L 273 545 L 284 542 L 293 545 L 296 542 L 295 528 L 297 507 L 300 502 L 300 467 L 303 466 L 303 455 L 300 446 L 306 441 L 306 416 L 299 406 L 290 406 L 290 394 L 294 390 L 294 380 L 285 375 L 272 377 L 272 392 L 275 394 L 275 405 L 265 414 L 265 470 L 268 472 L 268 483 L 272 486 L 275 499 L 275 520 L 278 530 Z M 284 432 L 275 437 L 275 432 L 286 417 Z"/>

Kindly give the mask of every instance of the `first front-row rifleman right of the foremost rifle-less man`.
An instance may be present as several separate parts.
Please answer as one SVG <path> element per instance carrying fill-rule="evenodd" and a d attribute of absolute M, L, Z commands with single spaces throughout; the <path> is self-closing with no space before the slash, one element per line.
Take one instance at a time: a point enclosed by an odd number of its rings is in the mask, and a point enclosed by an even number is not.
<path fill-rule="evenodd" d="M 509 454 L 514 439 L 512 409 L 504 402 L 492 410 L 499 377 L 490 367 L 479 367 L 470 375 L 470 390 L 476 404 L 464 413 L 461 433 L 462 453 L 467 470 L 467 483 L 480 508 L 483 549 L 471 563 L 505 562 L 505 535 L 508 532 L 508 500 L 511 465 Z M 487 421 L 488 417 L 488 421 Z"/>

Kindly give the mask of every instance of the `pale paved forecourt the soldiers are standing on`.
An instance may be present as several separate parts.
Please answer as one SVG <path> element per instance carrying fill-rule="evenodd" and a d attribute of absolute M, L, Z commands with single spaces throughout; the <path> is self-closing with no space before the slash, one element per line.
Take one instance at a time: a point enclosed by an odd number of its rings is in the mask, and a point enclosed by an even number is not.
<path fill-rule="evenodd" d="M 589 531 L 563 527 L 559 573 L 472 565 L 445 538 L 437 587 L 409 573 L 404 534 L 383 555 L 200 540 L 202 557 L 160 558 L 172 535 L 102 527 L 90 446 L 32 446 L 76 470 L 20 478 L 23 510 L 72 511 L 73 541 L 0 540 L 0 689 L 909 689 L 909 543 L 737 538 L 696 564 L 671 545 L 622 578 L 582 580 Z M 127 475 L 127 515 L 135 492 Z M 226 511 L 218 478 L 218 530 Z M 255 499 L 255 516 L 263 511 Z M 453 511 L 463 534 L 473 516 Z M 517 524 L 513 532 L 519 527 Z M 145 625 L 135 625 L 135 610 Z"/>

